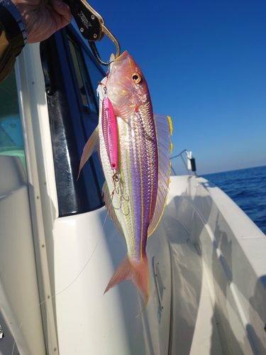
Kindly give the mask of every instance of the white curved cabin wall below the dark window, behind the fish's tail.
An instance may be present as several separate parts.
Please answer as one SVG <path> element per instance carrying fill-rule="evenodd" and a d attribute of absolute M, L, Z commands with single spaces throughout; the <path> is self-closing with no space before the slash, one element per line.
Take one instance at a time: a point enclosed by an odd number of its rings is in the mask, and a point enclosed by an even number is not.
<path fill-rule="evenodd" d="M 131 281 L 104 295 L 111 275 L 126 255 L 126 242 L 106 214 L 101 208 L 55 221 L 60 354 L 167 354 L 171 268 L 166 235 L 159 226 L 157 235 L 148 241 L 150 300 L 137 317 L 143 301 Z M 153 263 L 160 273 L 158 288 Z"/>

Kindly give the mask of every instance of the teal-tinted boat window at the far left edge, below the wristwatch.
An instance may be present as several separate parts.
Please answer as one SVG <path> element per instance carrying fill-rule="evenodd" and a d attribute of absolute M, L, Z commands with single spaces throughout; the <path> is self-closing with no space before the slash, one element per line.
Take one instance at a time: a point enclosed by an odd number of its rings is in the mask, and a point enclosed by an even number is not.
<path fill-rule="evenodd" d="M 18 156 L 26 171 L 14 70 L 0 83 L 0 155 Z"/>

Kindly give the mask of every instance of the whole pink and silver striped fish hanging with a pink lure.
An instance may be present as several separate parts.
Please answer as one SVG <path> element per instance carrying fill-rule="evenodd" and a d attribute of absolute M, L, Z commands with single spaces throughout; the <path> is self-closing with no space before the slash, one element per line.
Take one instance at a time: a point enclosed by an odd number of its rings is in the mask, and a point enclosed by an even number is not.
<path fill-rule="evenodd" d="M 79 173 L 98 151 L 106 209 L 128 251 L 104 293 L 131 280 L 144 309 L 150 295 L 146 246 L 167 202 L 172 121 L 170 116 L 153 114 L 148 84 L 128 51 L 118 58 L 111 55 L 108 75 L 99 82 L 97 93 L 99 125 L 84 146 Z"/>

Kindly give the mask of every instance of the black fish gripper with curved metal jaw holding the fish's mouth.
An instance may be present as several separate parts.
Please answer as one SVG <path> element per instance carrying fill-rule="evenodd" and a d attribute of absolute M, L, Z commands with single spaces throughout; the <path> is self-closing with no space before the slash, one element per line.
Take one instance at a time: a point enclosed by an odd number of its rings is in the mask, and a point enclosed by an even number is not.
<path fill-rule="evenodd" d="M 106 34 L 116 46 L 116 58 L 120 55 L 120 45 L 116 37 L 104 25 L 104 19 L 97 13 L 92 6 L 89 6 L 86 0 L 65 0 L 70 6 L 72 15 L 77 22 L 79 31 L 82 36 L 89 41 L 94 57 L 101 65 L 109 65 L 109 63 L 101 60 L 95 42 L 102 40 Z"/>

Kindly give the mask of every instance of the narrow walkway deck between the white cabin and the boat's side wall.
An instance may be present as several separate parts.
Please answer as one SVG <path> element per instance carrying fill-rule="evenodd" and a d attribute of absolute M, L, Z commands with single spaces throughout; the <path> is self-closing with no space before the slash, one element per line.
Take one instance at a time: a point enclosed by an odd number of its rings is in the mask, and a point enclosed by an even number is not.
<path fill-rule="evenodd" d="M 222 355 L 201 256 L 182 224 L 169 215 L 165 215 L 164 224 L 172 253 L 174 309 L 170 354 Z"/>

